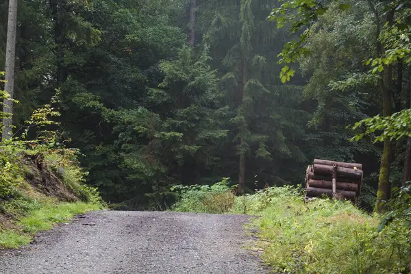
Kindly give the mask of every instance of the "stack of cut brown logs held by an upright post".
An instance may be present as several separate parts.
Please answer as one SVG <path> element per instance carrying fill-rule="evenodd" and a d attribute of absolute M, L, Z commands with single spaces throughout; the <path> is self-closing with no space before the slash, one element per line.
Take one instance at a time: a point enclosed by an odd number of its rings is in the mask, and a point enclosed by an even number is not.
<path fill-rule="evenodd" d="M 362 164 L 315 159 L 306 173 L 306 201 L 327 195 L 356 203 L 362 185 Z"/>

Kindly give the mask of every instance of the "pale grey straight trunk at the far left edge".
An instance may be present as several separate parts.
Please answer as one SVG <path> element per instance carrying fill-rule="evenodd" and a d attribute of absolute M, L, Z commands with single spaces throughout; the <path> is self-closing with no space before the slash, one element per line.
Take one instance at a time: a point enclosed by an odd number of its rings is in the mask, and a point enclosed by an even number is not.
<path fill-rule="evenodd" d="M 16 57 L 16 29 L 17 29 L 17 0 L 9 0 L 7 44 L 5 49 L 5 85 L 4 90 L 13 99 L 14 92 L 14 62 Z M 3 112 L 7 115 L 3 118 L 2 140 L 7 140 L 12 136 L 13 124 L 13 101 L 3 100 Z"/>

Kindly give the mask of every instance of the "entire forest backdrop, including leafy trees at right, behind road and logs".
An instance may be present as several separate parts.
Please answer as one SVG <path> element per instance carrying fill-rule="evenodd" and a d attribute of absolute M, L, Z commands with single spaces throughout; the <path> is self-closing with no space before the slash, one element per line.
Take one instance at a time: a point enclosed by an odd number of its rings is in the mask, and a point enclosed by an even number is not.
<path fill-rule="evenodd" d="M 411 179 L 407 24 L 400 1 L 22 2 L 14 134 L 38 138 L 21 128 L 54 98 L 45 132 L 117 208 L 167 208 L 171 186 L 222 177 L 237 193 L 299 184 L 326 158 L 362 162 L 361 206 L 378 190 L 386 210 Z"/>

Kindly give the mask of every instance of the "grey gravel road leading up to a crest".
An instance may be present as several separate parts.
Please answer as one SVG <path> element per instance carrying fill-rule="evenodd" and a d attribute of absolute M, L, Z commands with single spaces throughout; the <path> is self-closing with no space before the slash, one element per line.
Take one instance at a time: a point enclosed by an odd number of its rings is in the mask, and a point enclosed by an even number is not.
<path fill-rule="evenodd" d="M 246 249 L 249 216 L 99 211 L 0 253 L 0 273 L 267 273 Z"/>

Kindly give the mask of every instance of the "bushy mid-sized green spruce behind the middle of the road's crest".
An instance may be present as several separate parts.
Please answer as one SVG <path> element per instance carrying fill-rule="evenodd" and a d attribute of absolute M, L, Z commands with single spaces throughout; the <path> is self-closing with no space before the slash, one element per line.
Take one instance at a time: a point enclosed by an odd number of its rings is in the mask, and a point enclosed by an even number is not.
<path fill-rule="evenodd" d="M 197 169 L 207 169 L 216 162 L 215 144 L 227 134 L 219 122 L 225 108 L 216 107 L 219 79 L 208 64 L 208 47 L 199 58 L 193 52 L 183 47 L 177 60 L 162 62 L 164 80 L 149 90 L 149 100 L 158 105 L 164 117 L 158 138 L 170 175 L 179 175 L 184 184 L 198 179 Z"/>

